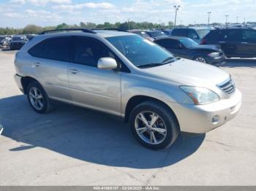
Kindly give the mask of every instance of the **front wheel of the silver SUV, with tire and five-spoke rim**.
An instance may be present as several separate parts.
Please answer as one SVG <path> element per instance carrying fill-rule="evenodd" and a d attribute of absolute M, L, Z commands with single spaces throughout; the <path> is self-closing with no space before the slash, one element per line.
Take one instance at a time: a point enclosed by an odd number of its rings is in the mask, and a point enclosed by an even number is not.
<path fill-rule="evenodd" d="M 173 112 L 157 101 L 135 107 L 129 117 L 135 139 L 149 149 L 165 149 L 176 141 L 179 126 Z"/>

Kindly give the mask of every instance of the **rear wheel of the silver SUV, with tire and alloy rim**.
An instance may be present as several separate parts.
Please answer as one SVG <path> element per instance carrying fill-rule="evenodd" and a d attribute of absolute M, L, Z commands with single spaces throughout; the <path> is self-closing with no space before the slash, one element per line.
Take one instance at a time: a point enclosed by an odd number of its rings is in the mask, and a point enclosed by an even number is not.
<path fill-rule="evenodd" d="M 39 82 L 31 82 L 26 90 L 26 95 L 35 112 L 40 114 L 50 112 L 50 100 Z"/>

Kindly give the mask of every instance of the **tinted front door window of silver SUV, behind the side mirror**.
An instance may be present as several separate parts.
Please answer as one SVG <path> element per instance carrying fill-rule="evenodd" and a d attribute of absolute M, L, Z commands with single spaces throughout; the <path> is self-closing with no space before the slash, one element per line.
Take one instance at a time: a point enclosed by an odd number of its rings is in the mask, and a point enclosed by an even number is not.
<path fill-rule="evenodd" d="M 74 50 L 74 62 L 87 66 L 97 67 L 99 58 L 110 57 L 115 59 L 115 56 L 107 47 L 94 39 L 75 39 Z"/>

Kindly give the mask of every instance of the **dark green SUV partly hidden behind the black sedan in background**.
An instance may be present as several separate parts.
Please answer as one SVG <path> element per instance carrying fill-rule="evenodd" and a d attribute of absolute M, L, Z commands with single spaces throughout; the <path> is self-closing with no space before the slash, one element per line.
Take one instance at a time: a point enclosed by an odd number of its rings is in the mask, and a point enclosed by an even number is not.
<path fill-rule="evenodd" d="M 192 39 L 198 44 L 201 39 L 211 31 L 211 28 L 207 27 L 195 27 L 195 28 L 173 28 L 171 36 L 183 36 Z"/>

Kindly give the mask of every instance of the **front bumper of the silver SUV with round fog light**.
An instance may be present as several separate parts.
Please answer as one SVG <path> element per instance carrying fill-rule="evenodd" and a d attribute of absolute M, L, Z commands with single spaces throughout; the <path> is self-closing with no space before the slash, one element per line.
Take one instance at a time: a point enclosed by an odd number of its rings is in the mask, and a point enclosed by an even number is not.
<path fill-rule="evenodd" d="M 236 89 L 236 92 L 228 99 L 197 106 L 175 104 L 173 111 L 176 114 L 181 131 L 207 133 L 236 117 L 241 108 L 241 99 L 241 92 Z"/>

